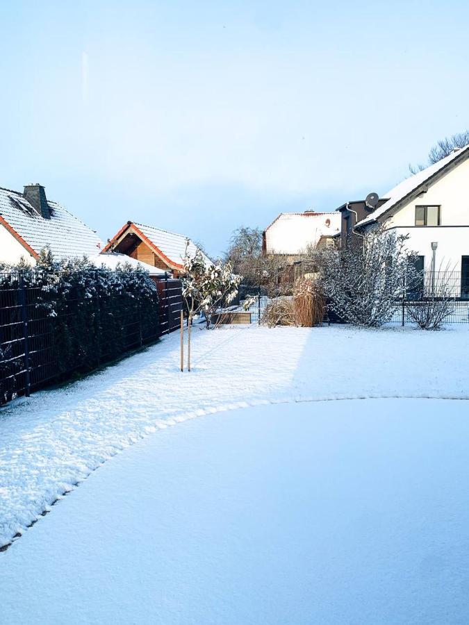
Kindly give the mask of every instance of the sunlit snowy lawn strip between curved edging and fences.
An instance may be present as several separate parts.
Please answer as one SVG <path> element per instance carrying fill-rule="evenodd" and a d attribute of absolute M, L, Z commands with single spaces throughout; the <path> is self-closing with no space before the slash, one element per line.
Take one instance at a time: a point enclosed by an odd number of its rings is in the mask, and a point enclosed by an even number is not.
<path fill-rule="evenodd" d="M 19 399 L 0 411 L 0 544 L 115 453 L 190 417 L 302 399 L 468 399 L 468 330 L 196 328 L 191 373 L 179 372 L 173 334 L 79 383 Z"/>

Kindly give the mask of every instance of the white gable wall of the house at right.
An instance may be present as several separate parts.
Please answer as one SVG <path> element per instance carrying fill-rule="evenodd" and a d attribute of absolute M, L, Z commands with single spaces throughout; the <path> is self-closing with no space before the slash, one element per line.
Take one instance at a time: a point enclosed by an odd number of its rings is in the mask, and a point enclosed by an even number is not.
<path fill-rule="evenodd" d="M 415 206 L 419 205 L 441 206 L 441 225 L 415 227 Z M 427 193 L 403 206 L 386 221 L 386 226 L 409 234 L 408 247 L 425 256 L 425 269 L 430 269 L 430 244 L 437 242 L 436 268 L 449 264 L 460 272 L 461 256 L 469 256 L 469 160 L 431 185 Z"/>

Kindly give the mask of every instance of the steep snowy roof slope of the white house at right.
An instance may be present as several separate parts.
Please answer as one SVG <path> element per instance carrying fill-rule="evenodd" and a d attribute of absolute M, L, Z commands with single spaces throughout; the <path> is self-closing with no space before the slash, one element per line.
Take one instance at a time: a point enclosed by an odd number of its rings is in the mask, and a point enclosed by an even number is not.
<path fill-rule="evenodd" d="M 420 188 L 422 185 L 425 185 L 425 183 L 429 183 L 430 185 L 431 178 L 439 172 L 442 172 L 443 169 L 445 169 L 448 165 L 451 165 L 456 159 L 466 160 L 468 157 L 469 145 L 466 145 L 466 147 L 456 149 L 450 155 L 438 160 L 438 163 L 434 163 L 434 165 L 430 165 L 426 169 L 422 169 L 421 172 L 417 172 L 416 174 L 413 174 L 413 176 L 409 176 L 409 178 L 406 178 L 393 189 L 385 193 L 384 197 L 386 198 L 386 202 L 381 204 L 377 210 L 374 210 L 373 213 L 370 213 L 370 215 L 365 217 L 365 219 L 361 219 L 356 226 L 363 226 L 376 221 L 376 219 L 387 213 L 388 210 L 393 208 L 393 206 Z"/>

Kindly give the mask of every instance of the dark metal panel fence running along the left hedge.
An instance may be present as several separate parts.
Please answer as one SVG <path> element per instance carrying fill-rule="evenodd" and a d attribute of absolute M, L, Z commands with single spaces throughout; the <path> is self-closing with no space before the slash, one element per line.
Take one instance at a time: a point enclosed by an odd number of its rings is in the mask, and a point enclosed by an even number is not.
<path fill-rule="evenodd" d="M 94 286 L 97 294 L 90 297 L 83 285 L 72 285 L 57 315 L 53 274 L 31 281 L 22 272 L 0 273 L 0 405 L 74 372 L 90 372 L 179 323 L 179 280 L 156 281 L 159 301 L 146 306 L 126 292 L 106 295 L 99 281 Z"/>

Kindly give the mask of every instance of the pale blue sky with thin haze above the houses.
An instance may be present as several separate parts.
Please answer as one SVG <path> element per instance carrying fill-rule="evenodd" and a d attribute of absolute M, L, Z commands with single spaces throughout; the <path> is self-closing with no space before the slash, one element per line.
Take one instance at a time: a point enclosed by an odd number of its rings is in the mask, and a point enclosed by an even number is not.
<path fill-rule="evenodd" d="M 216 255 L 469 127 L 469 4 L 0 0 L 0 185 Z"/>

